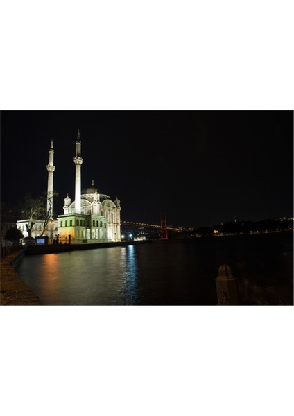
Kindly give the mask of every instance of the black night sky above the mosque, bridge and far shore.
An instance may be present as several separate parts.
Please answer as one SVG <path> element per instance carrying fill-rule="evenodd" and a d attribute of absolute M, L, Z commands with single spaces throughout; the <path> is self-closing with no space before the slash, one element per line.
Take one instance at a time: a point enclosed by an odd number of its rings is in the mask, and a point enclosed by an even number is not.
<path fill-rule="evenodd" d="M 201 227 L 293 216 L 291 111 L 2 111 L 1 201 L 46 191 L 54 141 L 55 209 L 82 188 L 121 200 L 121 219 Z"/>

